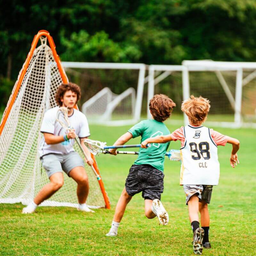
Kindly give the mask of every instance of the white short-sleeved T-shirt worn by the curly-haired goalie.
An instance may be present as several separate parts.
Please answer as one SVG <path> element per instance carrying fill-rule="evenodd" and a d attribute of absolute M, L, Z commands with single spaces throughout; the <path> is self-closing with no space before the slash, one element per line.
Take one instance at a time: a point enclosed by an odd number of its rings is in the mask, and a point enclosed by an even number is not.
<path fill-rule="evenodd" d="M 52 133 L 56 136 L 64 136 L 68 133 L 68 131 L 62 128 L 60 123 L 56 121 L 58 109 L 59 107 L 55 107 L 45 112 L 41 125 L 41 132 Z M 68 117 L 68 120 L 73 129 L 75 129 L 75 132 L 79 138 L 90 136 L 88 122 L 86 116 L 82 112 L 74 108 L 74 112 L 71 116 Z M 73 148 L 74 144 L 75 140 L 69 139 L 69 141 L 63 141 L 58 144 L 48 145 L 44 140 L 44 136 L 42 136 L 39 148 L 39 155 L 41 157 L 51 153 L 67 154 L 69 152 L 75 151 Z"/>

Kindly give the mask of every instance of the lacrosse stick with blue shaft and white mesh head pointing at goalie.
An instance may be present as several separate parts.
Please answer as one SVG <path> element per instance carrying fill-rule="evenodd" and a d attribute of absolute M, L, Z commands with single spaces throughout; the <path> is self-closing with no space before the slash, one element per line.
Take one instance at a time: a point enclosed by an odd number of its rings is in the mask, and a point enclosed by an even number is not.
<path fill-rule="evenodd" d="M 84 145 L 92 152 L 93 155 L 98 155 L 103 152 L 103 149 L 109 148 L 140 148 L 140 144 L 136 145 L 120 145 L 120 146 L 106 146 L 106 142 L 101 142 L 99 140 L 89 140 L 85 139 Z M 150 144 L 147 144 L 146 147 L 151 147 Z"/>

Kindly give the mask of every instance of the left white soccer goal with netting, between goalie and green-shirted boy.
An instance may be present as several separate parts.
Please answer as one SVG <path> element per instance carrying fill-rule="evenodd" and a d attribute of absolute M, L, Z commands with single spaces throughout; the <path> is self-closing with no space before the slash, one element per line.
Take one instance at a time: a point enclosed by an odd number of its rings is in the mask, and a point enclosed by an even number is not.
<path fill-rule="evenodd" d="M 134 124 L 140 120 L 146 65 L 140 63 L 62 62 L 80 85 L 81 106 L 89 123 Z"/>

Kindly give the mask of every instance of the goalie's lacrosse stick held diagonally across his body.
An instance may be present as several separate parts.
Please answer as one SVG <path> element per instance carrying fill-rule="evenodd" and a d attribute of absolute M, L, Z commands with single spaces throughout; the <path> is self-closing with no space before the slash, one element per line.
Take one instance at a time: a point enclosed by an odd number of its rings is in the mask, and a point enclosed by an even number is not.
<path fill-rule="evenodd" d="M 62 116 L 64 117 L 65 122 L 60 120 L 60 115 L 62 115 Z M 56 121 L 59 122 L 60 125 L 61 125 L 64 129 L 66 129 L 66 130 L 69 130 L 69 131 L 70 131 L 70 130 L 73 129 L 73 128 L 70 126 L 70 123 L 69 123 L 69 120 L 68 120 L 68 108 L 66 108 L 66 107 L 60 107 L 60 108 L 59 108 L 59 110 L 58 110 L 58 112 L 57 112 L 57 116 L 56 116 Z M 82 151 L 82 153 L 83 153 L 85 159 L 88 160 L 88 156 L 85 154 L 84 149 L 82 148 L 82 146 L 81 146 L 81 144 L 80 144 L 80 142 L 79 142 L 79 140 L 78 140 L 77 137 L 75 138 L 75 141 L 76 141 L 78 147 L 81 149 L 81 151 Z M 95 168 L 93 167 L 93 165 L 90 165 L 90 166 L 91 166 L 92 171 L 94 172 L 94 174 L 95 174 L 97 180 L 100 180 L 100 176 L 99 176 L 99 174 L 96 172 L 96 170 L 95 170 Z"/>

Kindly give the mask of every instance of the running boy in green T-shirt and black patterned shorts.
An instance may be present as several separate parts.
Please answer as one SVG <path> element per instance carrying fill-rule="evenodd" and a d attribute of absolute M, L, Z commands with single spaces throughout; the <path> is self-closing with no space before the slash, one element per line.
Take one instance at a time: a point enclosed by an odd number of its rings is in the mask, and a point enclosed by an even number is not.
<path fill-rule="evenodd" d="M 135 124 L 128 132 L 115 142 L 116 145 L 124 145 L 128 140 L 141 136 L 141 141 L 158 135 L 168 135 L 169 130 L 163 123 L 172 114 L 175 103 L 164 94 L 156 94 L 149 103 L 151 120 L 141 121 Z M 140 148 L 138 159 L 130 168 L 125 182 L 125 188 L 117 202 L 112 226 L 106 236 L 116 236 L 120 221 L 123 218 L 126 205 L 132 196 L 142 192 L 145 200 L 145 215 L 148 219 L 156 216 L 159 222 L 167 225 L 168 213 L 160 202 L 164 190 L 164 156 L 170 143 L 153 143 L 150 148 Z M 110 149 L 112 155 L 116 155 L 116 149 Z"/>

